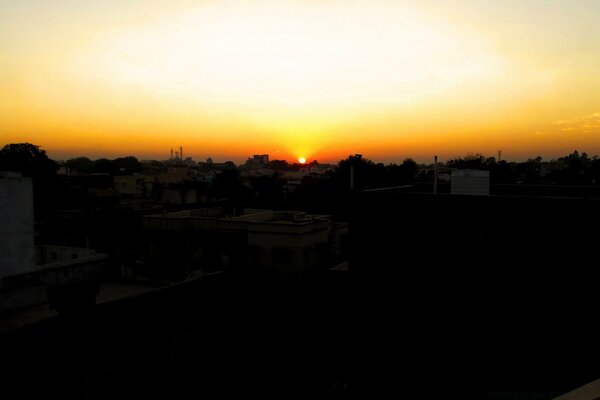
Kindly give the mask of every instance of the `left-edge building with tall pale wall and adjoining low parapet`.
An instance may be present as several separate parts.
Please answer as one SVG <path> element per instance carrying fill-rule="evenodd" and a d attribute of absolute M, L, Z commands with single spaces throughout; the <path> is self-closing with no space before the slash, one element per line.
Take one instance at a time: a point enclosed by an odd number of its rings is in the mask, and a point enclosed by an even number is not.
<path fill-rule="evenodd" d="M 56 308 L 71 300 L 75 307 L 95 302 L 95 279 L 107 256 L 91 249 L 34 246 L 30 178 L 0 173 L 0 220 L 0 312 L 46 301 Z"/>

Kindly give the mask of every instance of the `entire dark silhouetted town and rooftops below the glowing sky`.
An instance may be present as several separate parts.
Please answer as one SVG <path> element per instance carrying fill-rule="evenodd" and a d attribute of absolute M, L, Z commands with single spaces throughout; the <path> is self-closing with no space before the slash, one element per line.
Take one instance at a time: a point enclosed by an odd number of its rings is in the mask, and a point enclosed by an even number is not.
<path fill-rule="evenodd" d="M 0 150 L 22 397 L 550 399 L 600 378 L 597 156 L 165 158 Z"/>

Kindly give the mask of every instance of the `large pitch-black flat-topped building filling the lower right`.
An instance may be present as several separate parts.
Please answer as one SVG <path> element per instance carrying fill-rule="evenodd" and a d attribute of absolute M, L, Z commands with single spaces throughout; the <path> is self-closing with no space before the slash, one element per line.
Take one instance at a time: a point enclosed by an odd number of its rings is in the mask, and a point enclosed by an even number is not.
<path fill-rule="evenodd" d="M 353 336 L 358 384 L 366 393 L 384 381 L 403 393 L 470 398 L 478 382 L 499 393 L 559 392 L 600 376 L 577 361 L 600 355 L 592 317 L 600 235 L 587 228 L 600 222 L 598 206 L 357 193 L 349 270 L 356 326 L 368 327 Z"/>

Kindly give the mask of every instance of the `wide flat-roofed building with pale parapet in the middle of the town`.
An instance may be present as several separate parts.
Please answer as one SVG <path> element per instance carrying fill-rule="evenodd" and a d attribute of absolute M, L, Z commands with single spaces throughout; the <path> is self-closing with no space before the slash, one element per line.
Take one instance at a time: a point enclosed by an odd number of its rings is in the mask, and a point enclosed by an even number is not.
<path fill-rule="evenodd" d="M 206 270 L 299 275 L 330 268 L 343 258 L 347 225 L 297 211 L 231 216 L 210 208 L 148 215 L 144 230 L 146 263 L 185 279 Z"/>

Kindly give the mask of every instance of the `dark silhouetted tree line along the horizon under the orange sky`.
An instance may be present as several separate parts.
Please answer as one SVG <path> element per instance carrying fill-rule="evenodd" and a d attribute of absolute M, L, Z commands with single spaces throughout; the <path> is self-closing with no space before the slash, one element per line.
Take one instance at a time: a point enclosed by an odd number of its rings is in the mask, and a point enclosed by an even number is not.
<path fill-rule="evenodd" d="M 113 160 L 76 157 L 65 161 L 63 165 L 72 173 L 109 176 L 156 172 L 166 168 L 164 165 L 161 167 L 162 164 L 143 166 L 133 156 Z M 467 154 L 440 163 L 439 166 L 490 171 L 492 184 L 600 184 L 600 159 L 578 151 L 550 161 L 538 156 L 524 162 L 497 161 L 494 157 L 482 154 Z M 44 150 L 30 143 L 9 144 L 0 150 L 0 170 L 21 171 L 23 175 L 33 178 L 37 215 L 43 215 L 51 209 L 53 202 L 60 202 L 56 193 L 66 183 L 57 179 L 58 168 L 59 164 L 50 159 Z M 203 170 L 202 167 L 198 168 L 199 171 Z M 431 182 L 433 179 L 432 165 L 419 165 L 411 158 L 400 164 L 384 165 L 359 154 L 340 160 L 337 167 L 329 172 L 306 175 L 295 188 L 286 183 L 282 174 L 299 169 L 297 164 L 271 160 L 266 168 L 273 173 L 243 179 L 241 169 L 233 162 L 227 162 L 215 171 L 212 181 L 190 184 L 196 185 L 198 192 L 209 198 L 230 199 L 249 207 L 295 207 L 334 213 L 346 202 L 351 191 L 351 176 L 355 190 L 411 185 Z M 156 190 L 160 189 L 160 185 L 155 186 Z"/>

